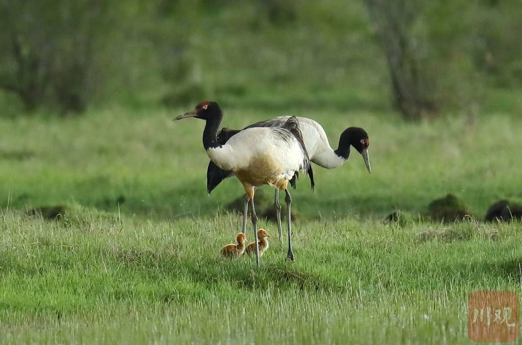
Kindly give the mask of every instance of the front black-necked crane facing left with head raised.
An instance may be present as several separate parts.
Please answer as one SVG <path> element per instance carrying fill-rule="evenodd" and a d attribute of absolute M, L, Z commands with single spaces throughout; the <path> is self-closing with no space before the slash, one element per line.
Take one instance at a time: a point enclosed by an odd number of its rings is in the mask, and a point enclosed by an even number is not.
<path fill-rule="evenodd" d="M 259 267 L 259 245 L 257 237 L 257 216 L 254 207 L 255 188 L 271 185 L 285 192 L 284 200 L 288 209 L 288 254 L 294 260 L 292 251 L 292 221 L 290 205 L 292 198 L 288 183 L 296 172 L 307 172 L 313 185 L 313 172 L 301 132 L 299 122 L 290 117 L 279 127 L 252 127 L 235 134 L 223 145 L 217 141 L 218 127 L 223 113 L 216 102 L 201 102 L 192 111 L 174 118 L 196 117 L 205 120 L 203 147 L 207 156 L 220 169 L 232 172 L 243 184 L 250 207 L 256 243 L 256 263 Z"/>

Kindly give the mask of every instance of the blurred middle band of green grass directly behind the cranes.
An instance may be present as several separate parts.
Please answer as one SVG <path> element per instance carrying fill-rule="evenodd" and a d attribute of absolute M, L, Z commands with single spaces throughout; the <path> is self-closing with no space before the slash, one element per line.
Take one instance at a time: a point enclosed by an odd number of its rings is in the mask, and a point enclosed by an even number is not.
<path fill-rule="evenodd" d="M 185 109 L 116 108 L 79 118 L 0 119 L 0 207 L 78 203 L 128 215 L 171 219 L 213 215 L 242 195 L 230 179 L 210 197 L 203 121 L 172 122 Z M 241 128 L 277 113 L 224 109 L 223 126 Z M 289 114 L 296 113 L 289 109 Z M 131 116 L 129 116 L 129 114 Z M 522 118 L 490 114 L 409 124 L 389 114 L 300 112 L 322 123 L 336 147 L 342 129 L 370 135 L 369 175 L 357 152 L 336 170 L 315 167 L 317 188 L 301 179 L 295 208 L 309 219 L 355 213 L 379 219 L 402 209 L 426 212 L 431 200 L 453 193 L 483 218 L 500 198 L 522 201 L 516 167 L 522 161 Z"/>

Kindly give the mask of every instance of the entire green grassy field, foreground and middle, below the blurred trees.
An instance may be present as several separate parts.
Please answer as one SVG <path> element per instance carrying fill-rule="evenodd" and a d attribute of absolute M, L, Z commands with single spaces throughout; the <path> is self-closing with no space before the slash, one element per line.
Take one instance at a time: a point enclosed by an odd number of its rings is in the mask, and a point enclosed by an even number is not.
<path fill-rule="evenodd" d="M 219 256 L 242 189 L 231 179 L 207 196 L 204 123 L 171 122 L 185 110 L 0 120 L 2 342 L 469 343 L 468 293 L 520 292 L 521 224 L 480 221 L 500 198 L 522 201 L 520 117 L 301 111 L 333 146 L 364 127 L 372 174 L 353 153 L 315 169 L 314 193 L 300 180 L 296 261 L 275 236 L 256 269 Z M 224 111 L 231 128 L 276 115 Z M 477 220 L 382 222 L 447 193 Z M 66 217 L 26 215 L 53 205 Z"/>

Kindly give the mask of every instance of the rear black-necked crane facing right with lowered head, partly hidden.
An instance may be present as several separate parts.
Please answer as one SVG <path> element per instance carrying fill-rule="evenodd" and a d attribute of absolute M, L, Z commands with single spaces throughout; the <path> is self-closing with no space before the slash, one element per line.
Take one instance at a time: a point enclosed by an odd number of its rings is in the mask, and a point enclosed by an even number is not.
<path fill-rule="evenodd" d="M 254 123 L 247 128 L 254 127 L 280 127 L 290 116 L 278 116 L 270 120 L 260 121 Z M 334 169 L 341 166 L 348 160 L 350 156 L 350 147 L 353 146 L 357 150 L 366 164 L 366 169 L 371 173 L 370 158 L 368 155 L 368 146 L 370 140 L 366 131 L 359 127 L 349 127 L 345 129 L 339 137 L 339 146 L 337 149 L 330 147 L 326 132 L 319 123 L 306 117 L 295 117 L 299 122 L 299 128 L 303 135 L 304 146 L 310 157 L 310 160 L 315 164 L 326 169 Z M 244 130 L 242 129 L 242 130 Z M 219 144 L 224 144 L 235 134 L 242 130 L 222 128 L 217 139 Z M 207 169 L 207 191 L 208 194 L 212 189 L 216 188 L 227 177 L 232 176 L 231 171 L 220 169 L 212 161 L 208 164 Z M 296 175 L 297 176 L 297 175 Z M 290 181 L 292 186 L 295 186 L 295 180 Z M 282 241 L 281 234 L 281 205 L 279 204 L 279 191 L 276 189 L 275 207 L 277 216 L 277 225 L 279 230 L 279 241 Z M 243 211 L 243 233 L 246 231 L 246 217 L 248 212 L 248 198 L 245 198 L 245 206 Z"/>

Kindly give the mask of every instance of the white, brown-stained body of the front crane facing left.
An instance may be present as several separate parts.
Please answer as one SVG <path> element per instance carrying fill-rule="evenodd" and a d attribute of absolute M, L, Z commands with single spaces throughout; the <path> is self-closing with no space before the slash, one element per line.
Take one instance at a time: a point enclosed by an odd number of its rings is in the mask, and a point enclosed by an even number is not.
<path fill-rule="evenodd" d="M 219 168 L 231 171 L 243 184 L 269 184 L 285 189 L 296 171 L 306 169 L 306 153 L 288 130 L 247 128 L 226 144 L 207 150 Z"/>

